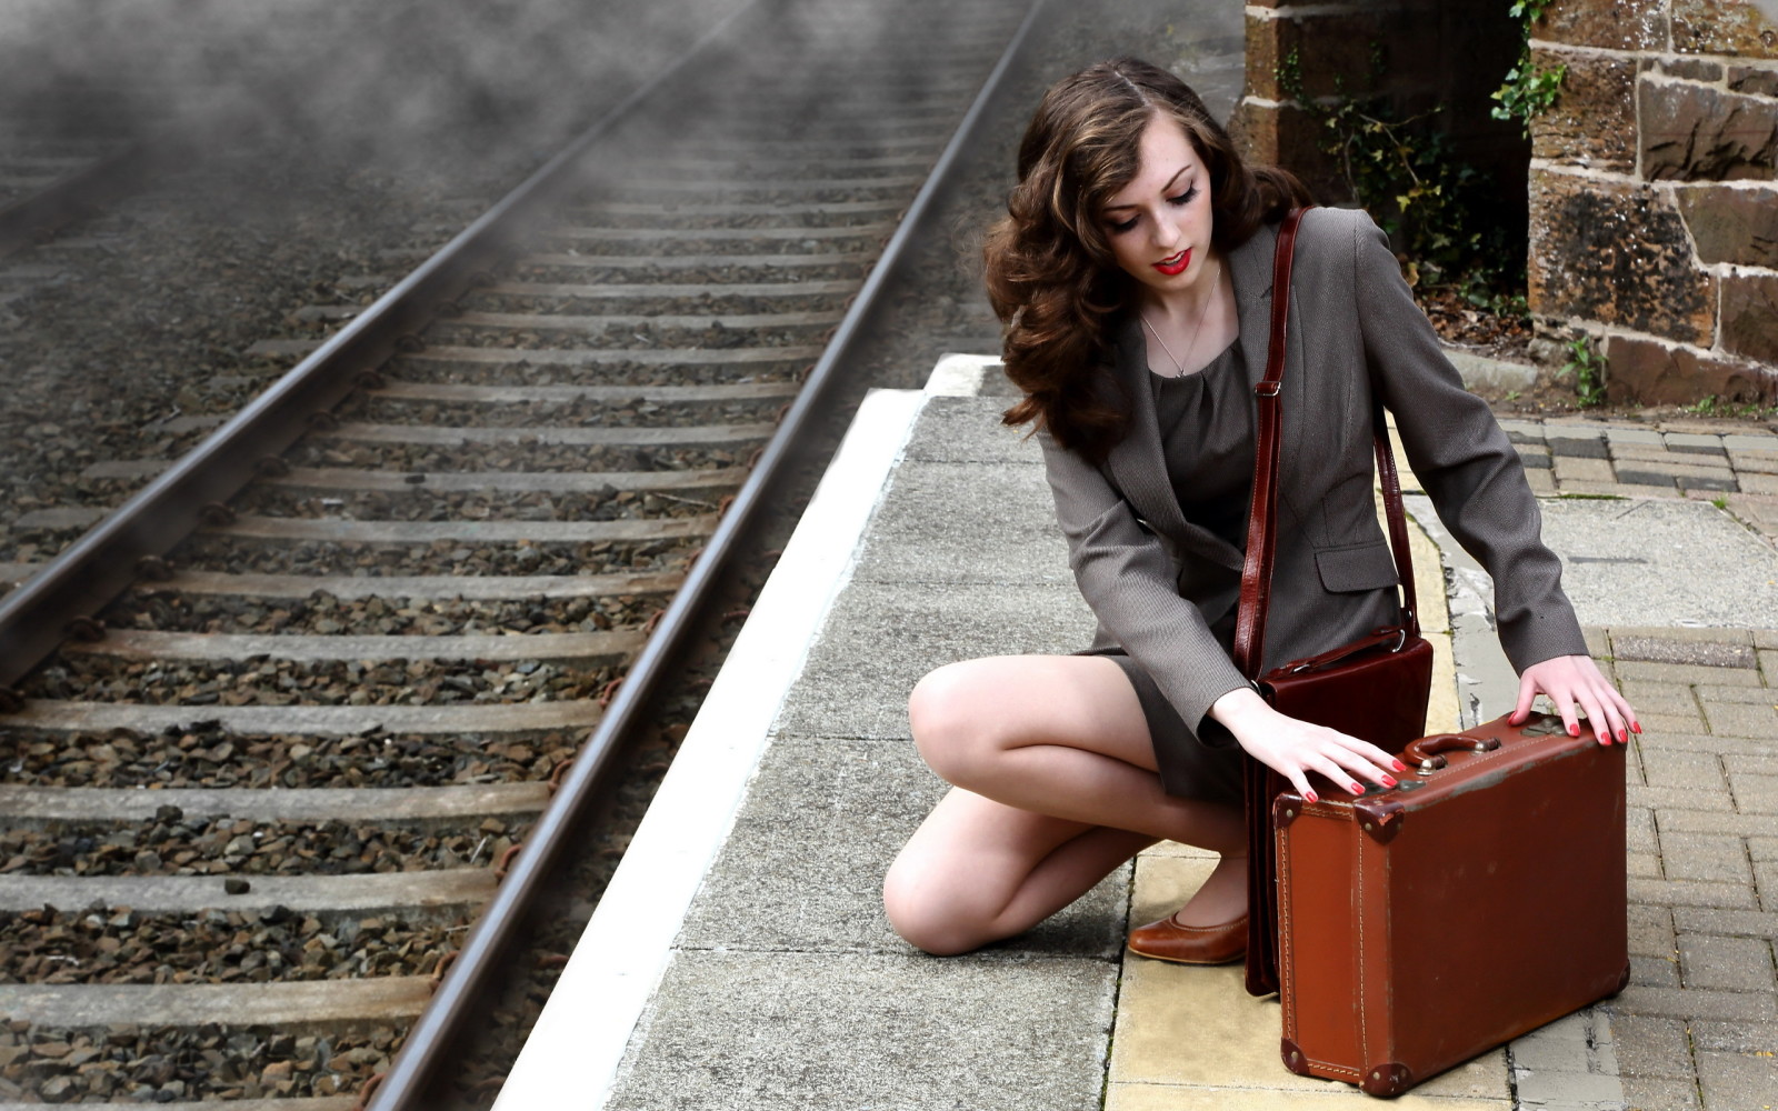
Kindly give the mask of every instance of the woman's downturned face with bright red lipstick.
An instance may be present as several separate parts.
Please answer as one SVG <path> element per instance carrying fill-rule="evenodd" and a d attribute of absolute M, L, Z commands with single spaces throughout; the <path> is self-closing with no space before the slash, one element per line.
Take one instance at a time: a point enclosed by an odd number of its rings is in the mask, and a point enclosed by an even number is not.
<path fill-rule="evenodd" d="M 1211 251 L 1211 181 L 1184 128 L 1156 114 L 1141 132 L 1140 167 L 1101 213 L 1118 268 L 1149 297 L 1191 290 Z"/>

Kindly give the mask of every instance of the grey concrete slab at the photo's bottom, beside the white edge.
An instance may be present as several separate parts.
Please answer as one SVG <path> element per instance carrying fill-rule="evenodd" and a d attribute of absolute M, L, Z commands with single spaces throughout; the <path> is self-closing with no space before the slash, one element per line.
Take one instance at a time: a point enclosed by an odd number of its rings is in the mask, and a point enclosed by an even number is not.
<path fill-rule="evenodd" d="M 683 953 L 606 1107 L 1099 1111 L 1115 999 L 1102 960 Z"/>

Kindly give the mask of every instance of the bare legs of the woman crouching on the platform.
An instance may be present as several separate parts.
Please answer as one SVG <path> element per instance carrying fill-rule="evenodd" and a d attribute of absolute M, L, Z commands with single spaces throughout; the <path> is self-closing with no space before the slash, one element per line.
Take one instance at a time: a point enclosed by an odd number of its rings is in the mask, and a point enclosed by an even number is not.
<path fill-rule="evenodd" d="M 932 953 L 1021 933 L 1157 839 L 1223 853 L 1181 910 L 1246 908 L 1239 807 L 1161 789 L 1122 668 L 1093 656 L 1001 656 L 939 668 L 909 702 L 926 763 L 957 784 L 884 880 L 896 931 Z"/>

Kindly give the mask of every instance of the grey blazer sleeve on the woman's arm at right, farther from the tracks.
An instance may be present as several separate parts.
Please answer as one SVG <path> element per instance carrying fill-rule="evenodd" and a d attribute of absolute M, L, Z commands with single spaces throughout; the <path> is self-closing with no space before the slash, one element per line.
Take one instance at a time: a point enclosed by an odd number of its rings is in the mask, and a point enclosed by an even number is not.
<path fill-rule="evenodd" d="M 1401 446 L 1440 521 L 1494 576 L 1501 647 L 1520 672 L 1554 656 L 1586 654 L 1518 452 L 1446 359 L 1389 238 L 1369 215 L 1355 217 L 1353 290 L 1373 384 L 1398 418 Z"/>

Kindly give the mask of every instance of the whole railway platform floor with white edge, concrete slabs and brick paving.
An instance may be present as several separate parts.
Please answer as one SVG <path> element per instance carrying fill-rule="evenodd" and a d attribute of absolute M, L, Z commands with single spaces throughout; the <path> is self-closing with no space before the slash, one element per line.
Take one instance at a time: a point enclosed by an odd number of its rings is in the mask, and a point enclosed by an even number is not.
<path fill-rule="evenodd" d="M 1367 1106 L 1284 1070 L 1278 1004 L 1248 997 L 1239 965 L 1124 953 L 1131 923 L 1207 871 L 1197 850 L 1156 846 L 967 956 L 889 930 L 884 869 L 944 789 L 909 739 L 909 688 L 1092 629 L 997 382 L 992 361 L 953 356 L 925 391 L 869 395 L 496 1107 Z M 1778 517 L 1762 484 L 1778 436 L 1502 425 L 1646 729 L 1629 759 L 1632 985 L 1394 1106 L 1771 1104 Z M 1405 478 L 1438 652 L 1428 725 L 1497 716 L 1517 681 L 1486 576 Z"/>

